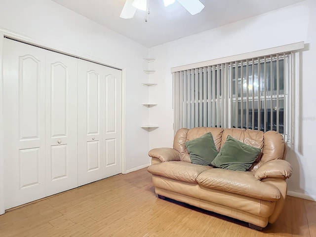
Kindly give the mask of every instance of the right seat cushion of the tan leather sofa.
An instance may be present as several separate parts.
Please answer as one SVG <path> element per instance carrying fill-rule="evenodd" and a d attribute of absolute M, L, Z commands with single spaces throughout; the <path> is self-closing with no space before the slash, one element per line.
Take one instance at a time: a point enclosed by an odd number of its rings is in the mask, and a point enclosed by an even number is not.
<path fill-rule="evenodd" d="M 249 171 L 213 168 L 200 173 L 197 183 L 205 188 L 267 201 L 276 201 L 281 196 L 276 186 L 261 182 Z"/>

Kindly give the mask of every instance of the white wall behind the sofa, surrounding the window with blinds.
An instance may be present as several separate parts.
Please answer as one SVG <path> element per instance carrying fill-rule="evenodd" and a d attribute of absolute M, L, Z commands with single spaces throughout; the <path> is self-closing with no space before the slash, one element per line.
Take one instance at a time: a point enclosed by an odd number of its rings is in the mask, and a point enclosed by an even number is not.
<path fill-rule="evenodd" d="M 291 195 L 316 200 L 316 1 L 306 0 L 273 12 L 235 22 L 194 36 L 150 48 L 151 65 L 156 74 L 151 82 L 150 100 L 158 103 L 151 109 L 150 122 L 160 127 L 150 133 L 150 148 L 172 147 L 173 110 L 171 67 L 242 54 L 246 52 L 305 41 L 301 78 L 301 139 L 290 150 L 287 160 L 293 165 L 288 180 Z M 314 104 L 314 105 L 313 105 Z M 300 117 L 300 118 L 298 118 Z M 299 145 L 302 147 L 298 149 Z"/>

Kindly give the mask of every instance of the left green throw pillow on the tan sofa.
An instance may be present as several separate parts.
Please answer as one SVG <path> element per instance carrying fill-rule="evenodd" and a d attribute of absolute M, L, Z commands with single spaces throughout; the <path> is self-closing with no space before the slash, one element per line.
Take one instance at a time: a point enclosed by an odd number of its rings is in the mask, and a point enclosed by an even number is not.
<path fill-rule="evenodd" d="M 218 154 L 212 133 L 210 132 L 191 141 L 187 141 L 186 147 L 193 164 L 210 165 Z"/>

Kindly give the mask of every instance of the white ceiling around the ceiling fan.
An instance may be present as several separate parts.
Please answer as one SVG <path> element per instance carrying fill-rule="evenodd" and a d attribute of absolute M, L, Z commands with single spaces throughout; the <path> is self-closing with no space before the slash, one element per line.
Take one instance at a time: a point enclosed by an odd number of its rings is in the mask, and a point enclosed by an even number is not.
<path fill-rule="evenodd" d="M 119 17 L 125 0 L 53 0 L 146 47 L 187 37 L 303 0 L 200 0 L 205 8 L 192 16 L 179 2 L 164 7 L 150 0 L 150 15 L 137 10 L 133 19 Z"/>

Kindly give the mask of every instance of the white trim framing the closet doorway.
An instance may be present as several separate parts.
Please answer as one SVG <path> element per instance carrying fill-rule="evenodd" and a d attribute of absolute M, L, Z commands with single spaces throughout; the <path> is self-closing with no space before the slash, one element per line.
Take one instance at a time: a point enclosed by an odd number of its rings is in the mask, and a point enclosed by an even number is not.
<path fill-rule="evenodd" d="M 72 56 L 75 58 L 80 58 L 83 60 L 87 60 L 93 63 L 101 64 L 107 67 L 116 68 L 121 70 L 121 172 L 122 174 L 126 174 L 126 152 L 125 152 L 125 127 L 126 127 L 126 119 L 125 119 L 125 111 L 126 111 L 126 102 L 125 102 L 125 92 L 126 92 L 126 69 L 122 65 L 114 65 L 115 63 L 109 62 L 97 57 L 93 57 L 91 55 L 87 55 L 84 53 L 79 53 L 77 51 L 73 51 L 70 49 L 66 49 L 63 47 L 59 47 L 56 45 L 48 45 L 43 42 L 32 40 L 26 36 L 5 30 L 0 28 L 0 215 L 4 214 L 4 157 L 3 157 L 3 121 L 2 121 L 2 101 L 3 101 L 3 39 L 7 37 L 12 40 L 17 40 L 22 43 L 32 44 L 34 46 L 55 51 L 57 53 L 66 54 L 68 56 Z"/>

